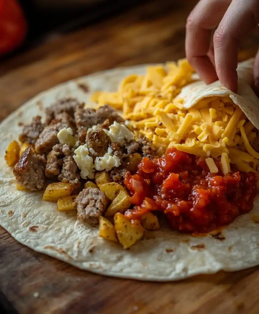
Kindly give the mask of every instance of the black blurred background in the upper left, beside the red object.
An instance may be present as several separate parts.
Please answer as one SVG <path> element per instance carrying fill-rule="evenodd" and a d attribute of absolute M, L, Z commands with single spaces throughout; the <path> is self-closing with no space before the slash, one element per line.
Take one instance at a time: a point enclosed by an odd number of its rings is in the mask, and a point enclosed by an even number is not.
<path fill-rule="evenodd" d="M 49 36 L 76 30 L 143 2 L 144 0 L 0 0 L 0 59 L 23 52 L 47 40 Z M 13 18 L 16 10 L 13 3 L 21 8 L 27 22 L 26 35 L 21 43 L 13 38 L 10 49 L 1 51 L 1 39 L 6 36 L 1 31 L 1 18 L 15 22 L 20 29 L 18 32 L 23 28 L 21 20 Z"/>

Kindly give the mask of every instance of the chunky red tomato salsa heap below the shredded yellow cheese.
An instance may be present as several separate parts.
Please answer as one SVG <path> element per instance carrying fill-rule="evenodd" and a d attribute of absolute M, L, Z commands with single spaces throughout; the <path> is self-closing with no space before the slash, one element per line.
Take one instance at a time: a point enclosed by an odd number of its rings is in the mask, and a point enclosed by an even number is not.
<path fill-rule="evenodd" d="M 230 224 L 249 212 L 257 193 L 257 174 L 232 171 L 210 173 L 204 158 L 174 148 L 158 159 L 143 158 L 125 185 L 136 206 L 125 213 L 130 219 L 158 210 L 174 230 L 208 232 Z"/>

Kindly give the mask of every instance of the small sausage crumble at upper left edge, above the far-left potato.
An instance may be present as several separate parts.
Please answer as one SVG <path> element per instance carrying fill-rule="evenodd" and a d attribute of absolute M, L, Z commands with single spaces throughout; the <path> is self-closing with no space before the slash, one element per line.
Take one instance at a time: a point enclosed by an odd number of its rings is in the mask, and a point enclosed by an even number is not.
<path fill-rule="evenodd" d="M 41 116 L 35 116 L 32 118 L 32 122 L 23 127 L 22 134 L 19 135 L 21 142 L 28 142 L 35 144 L 39 138 L 39 134 L 43 131 L 44 124 L 41 123 Z"/>

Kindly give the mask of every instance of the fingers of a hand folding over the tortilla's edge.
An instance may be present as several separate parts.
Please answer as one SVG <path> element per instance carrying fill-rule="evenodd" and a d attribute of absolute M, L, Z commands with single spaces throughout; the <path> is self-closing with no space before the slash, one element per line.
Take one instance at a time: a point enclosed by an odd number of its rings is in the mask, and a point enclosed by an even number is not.
<path fill-rule="evenodd" d="M 187 19 L 185 52 L 206 84 L 219 79 L 225 87 L 237 91 L 239 43 L 258 23 L 259 0 L 199 1 Z M 259 91 L 259 50 L 254 79 Z"/>

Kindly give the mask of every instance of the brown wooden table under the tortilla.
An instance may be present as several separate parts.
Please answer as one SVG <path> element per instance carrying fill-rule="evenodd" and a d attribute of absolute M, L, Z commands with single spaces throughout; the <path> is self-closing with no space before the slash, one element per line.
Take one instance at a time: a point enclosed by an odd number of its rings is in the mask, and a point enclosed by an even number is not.
<path fill-rule="evenodd" d="M 69 79 L 184 57 L 185 19 L 195 3 L 149 1 L 3 62 L 0 119 Z M 258 38 L 257 31 L 246 38 L 241 58 L 254 55 Z M 0 229 L 0 302 L 20 314 L 258 313 L 258 286 L 258 268 L 164 284 L 107 278 L 33 252 Z"/>

